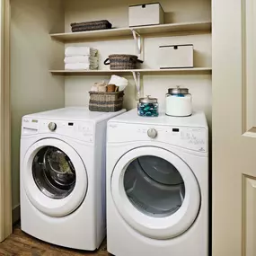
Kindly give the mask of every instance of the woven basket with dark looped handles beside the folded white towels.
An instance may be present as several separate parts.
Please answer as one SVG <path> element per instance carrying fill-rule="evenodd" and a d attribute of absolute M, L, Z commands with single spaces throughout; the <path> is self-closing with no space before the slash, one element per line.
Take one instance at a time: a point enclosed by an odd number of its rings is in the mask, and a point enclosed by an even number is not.
<path fill-rule="evenodd" d="M 136 69 L 137 63 L 143 63 L 136 55 L 111 54 L 105 61 L 105 65 L 110 65 L 110 69 Z"/>

